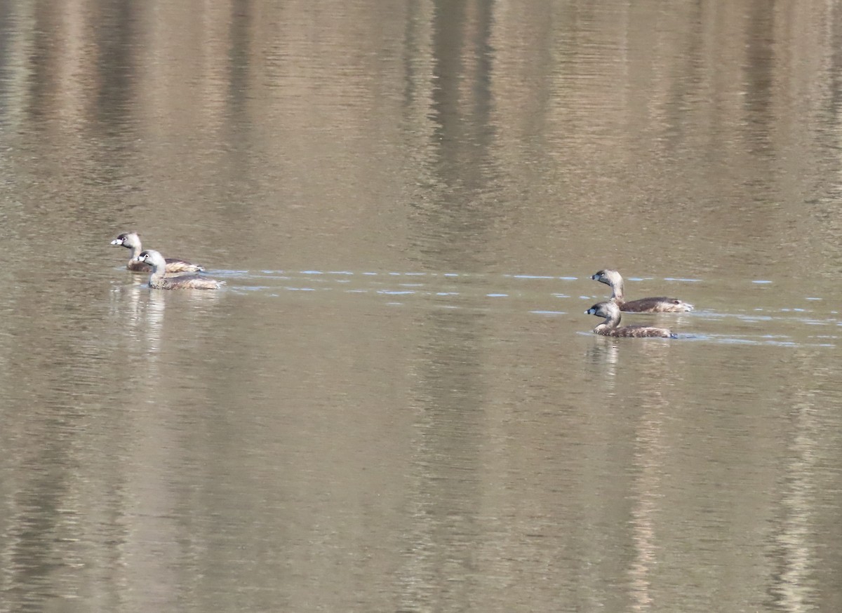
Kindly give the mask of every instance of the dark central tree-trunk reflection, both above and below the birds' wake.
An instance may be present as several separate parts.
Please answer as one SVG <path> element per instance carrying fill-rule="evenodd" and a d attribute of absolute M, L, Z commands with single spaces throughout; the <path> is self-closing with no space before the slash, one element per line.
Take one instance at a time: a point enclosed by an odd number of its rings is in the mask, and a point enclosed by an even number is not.
<path fill-rule="evenodd" d="M 474 271 L 486 264 L 482 244 L 496 212 L 483 200 L 494 179 L 488 163 L 493 141 L 489 88 L 493 7 L 493 3 L 434 3 L 434 142 L 432 168 L 422 172 L 433 177 L 439 189 L 418 207 L 413 232 L 419 259 L 429 269 Z M 412 74 L 404 88 L 408 96 L 415 92 Z M 406 104 L 413 106 L 412 100 Z M 407 608 L 429 600 L 465 603 L 472 590 L 470 542 L 482 533 L 477 473 L 486 402 L 481 345 L 488 331 L 476 306 L 464 307 L 427 312 L 424 328 L 429 333 L 417 349 L 418 500 L 402 573 Z M 427 587 L 424 594 L 415 591 L 418 585 Z"/>

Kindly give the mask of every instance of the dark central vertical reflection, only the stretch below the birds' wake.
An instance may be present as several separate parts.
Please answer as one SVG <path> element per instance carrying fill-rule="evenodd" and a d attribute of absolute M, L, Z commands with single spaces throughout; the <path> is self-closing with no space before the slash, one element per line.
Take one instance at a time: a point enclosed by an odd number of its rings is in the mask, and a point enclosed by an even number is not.
<path fill-rule="evenodd" d="M 425 322 L 433 338 L 419 348 L 413 446 L 417 491 L 406 544 L 402 598 L 410 603 L 465 602 L 474 537 L 482 526 L 479 446 L 483 406 L 480 326 L 469 312 L 442 311 Z M 419 592 L 420 589 L 420 592 Z"/>

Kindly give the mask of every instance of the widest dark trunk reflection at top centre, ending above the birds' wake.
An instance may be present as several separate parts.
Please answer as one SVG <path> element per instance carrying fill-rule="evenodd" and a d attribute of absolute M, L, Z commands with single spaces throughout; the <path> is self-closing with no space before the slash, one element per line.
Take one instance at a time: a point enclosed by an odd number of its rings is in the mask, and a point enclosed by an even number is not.
<path fill-rule="evenodd" d="M 488 151 L 494 136 L 488 87 L 493 4 L 435 3 L 434 7 L 430 174 L 439 189 L 418 211 L 421 232 L 415 240 L 429 269 L 476 271 L 493 262 L 485 245 L 499 214 L 493 201 L 483 198 L 496 179 Z"/>

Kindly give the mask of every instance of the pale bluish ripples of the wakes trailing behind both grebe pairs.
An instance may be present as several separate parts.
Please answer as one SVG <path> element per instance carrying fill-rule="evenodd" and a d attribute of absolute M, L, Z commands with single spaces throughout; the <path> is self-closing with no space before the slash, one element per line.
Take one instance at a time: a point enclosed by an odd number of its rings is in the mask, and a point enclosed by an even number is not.
<path fill-rule="evenodd" d="M 513 274 L 482 274 L 482 273 L 459 273 L 459 272 L 424 272 L 424 271 L 399 271 L 399 270 L 365 270 L 354 272 L 349 269 L 319 270 L 303 269 L 298 271 L 261 269 L 257 272 L 247 270 L 219 270 L 214 271 L 229 279 L 229 288 L 233 291 L 265 292 L 267 296 L 281 296 L 282 291 L 290 292 L 323 292 L 339 291 L 346 295 L 353 296 L 384 296 L 386 298 L 401 297 L 404 301 L 389 301 L 390 306 L 406 306 L 414 300 L 423 301 L 426 299 L 445 299 L 445 302 L 437 302 L 435 307 L 441 308 L 468 308 L 481 309 L 482 311 L 493 312 L 500 308 L 512 312 L 529 313 L 540 317 L 558 317 L 570 312 L 578 312 L 582 304 L 586 306 L 594 301 L 604 300 L 605 296 L 599 292 L 594 294 L 577 294 L 576 292 L 558 291 L 559 285 L 578 281 L 591 287 L 589 277 L 578 277 L 573 275 L 543 275 L 530 273 Z M 237 280 L 247 281 L 246 285 L 236 285 Z M 258 280 L 258 283 L 248 285 L 248 280 Z M 629 280 L 644 280 L 640 277 L 630 277 Z M 665 277 L 664 281 L 671 283 L 700 283 L 701 279 L 692 277 Z M 277 282 L 277 285 L 274 285 Z M 233 283 L 233 285 L 232 285 Z M 773 280 L 751 280 L 753 285 L 770 285 Z M 517 288 L 516 291 L 510 291 Z M 454 302 L 447 302 L 453 299 Z M 456 301 L 458 300 L 458 303 Z M 409 301 L 409 302 L 408 302 Z M 465 302 L 466 301 L 466 302 Z M 483 305 L 482 301 L 488 301 Z M 569 309 L 546 308 L 541 302 L 558 301 L 566 304 L 571 301 L 575 306 Z M 759 306 L 752 309 L 740 311 L 717 311 L 698 309 L 692 314 L 634 314 L 635 318 L 659 317 L 666 321 L 669 318 L 680 322 L 677 333 L 680 339 L 692 340 L 695 342 L 709 342 L 714 344 L 762 344 L 781 347 L 817 346 L 834 347 L 837 336 L 835 335 L 811 335 L 799 333 L 798 328 L 810 328 L 822 326 L 839 326 L 835 315 L 837 312 L 824 313 L 814 308 L 819 307 L 823 296 L 801 296 L 797 301 L 800 305 L 770 308 Z M 809 304 L 810 307 L 804 306 Z M 496 306 L 495 306 L 496 305 Z M 505 306 L 503 306 L 505 305 Z M 549 306 L 549 305 L 547 305 Z M 715 322 L 717 328 L 726 329 L 728 320 L 736 320 L 746 325 L 763 324 L 763 330 L 757 334 L 746 334 L 741 330 L 739 334 L 733 333 L 708 333 L 704 330 L 694 331 L 693 322 L 698 322 L 698 328 L 705 328 L 704 322 Z M 733 325 L 733 324 L 732 324 Z M 675 328 L 675 326 L 673 326 Z M 794 327 L 794 328 L 793 328 Z M 781 333 L 771 332 L 780 329 Z"/>

